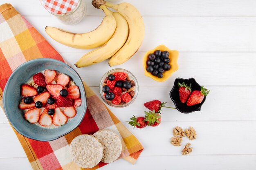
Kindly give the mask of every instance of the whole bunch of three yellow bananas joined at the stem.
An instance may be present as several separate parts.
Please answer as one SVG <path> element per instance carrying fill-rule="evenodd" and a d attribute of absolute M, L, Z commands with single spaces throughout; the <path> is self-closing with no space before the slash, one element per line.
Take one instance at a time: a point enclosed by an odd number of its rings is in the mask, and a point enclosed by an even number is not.
<path fill-rule="evenodd" d="M 110 57 L 110 66 L 126 62 L 137 52 L 144 39 L 144 22 L 139 11 L 129 3 L 110 4 L 104 0 L 92 0 L 92 5 L 106 14 L 94 31 L 76 34 L 54 27 L 46 27 L 45 31 L 54 40 L 74 48 L 92 49 L 100 46 L 83 55 L 75 64 L 77 67 L 90 66 Z M 107 7 L 117 12 L 113 13 Z"/>

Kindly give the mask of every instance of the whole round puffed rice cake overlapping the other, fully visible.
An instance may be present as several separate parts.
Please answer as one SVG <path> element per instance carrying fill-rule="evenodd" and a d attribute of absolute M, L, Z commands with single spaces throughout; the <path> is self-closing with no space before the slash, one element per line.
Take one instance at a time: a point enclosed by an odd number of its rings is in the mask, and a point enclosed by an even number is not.
<path fill-rule="evenodd" d="M 70 144 L 70 155 L 78 166 L 92 168 L 103 158 L 103 148 L 92 135 L 79 135 Z"/>

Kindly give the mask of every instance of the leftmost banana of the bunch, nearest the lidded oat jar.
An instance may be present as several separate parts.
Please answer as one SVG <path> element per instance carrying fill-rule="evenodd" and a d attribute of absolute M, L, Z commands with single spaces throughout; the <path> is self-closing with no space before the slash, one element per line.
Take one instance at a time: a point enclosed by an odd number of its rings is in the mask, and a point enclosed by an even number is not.
<path fill-rule="evenodd" d="M 76 49 L 93 49 L 105 44 L 114 34 L 116 20 L 105 5 L 101 8 L 106 16 L 103 18 L 99 27 L 88 33 L 71 33 L 56 27 L 46 26 L 46 33 L 57 42 Z"/>

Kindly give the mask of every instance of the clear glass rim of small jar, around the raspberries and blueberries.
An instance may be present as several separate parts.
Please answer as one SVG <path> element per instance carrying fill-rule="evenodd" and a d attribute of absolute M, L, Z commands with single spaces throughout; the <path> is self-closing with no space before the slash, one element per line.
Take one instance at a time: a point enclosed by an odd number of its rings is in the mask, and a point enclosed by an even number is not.
<path fill-rule="evenodd" d="M 134 91 L 134 96 L 132 96 L 132 99 L 129 101 L 129 102 L 121 102 L 119 105 L 116 105 L 116 104 L 112 104 L 112 102 L 110 100 L 107 100 L 105 97 L 104 97 L 104 93 L 102 91 L 102 87 L 106 85 L 106 78 L 108 77 L 108 75 L 112 74 L 112 73 L 115 73 L 115 72 L 124 72 L 127 74 L 127 78 L 126 80 L 131 82 L 132 81 L 132 87 L 130 89 L 128 89 L 127 91 L 123 91 L 121 94 L 124 94 L 124 93 L 128 93 L 128 91 Z M 129 91 L 129 92 L 130 92 Z M 122 69 L 122 68 L 115 68 L 113 70 L 110 70 L 108 71 L 106 74 L 103 75 L 102 79 L 101 79 L 101 82 L 99 84 L 99 93 L 101 95 L 101 98 L 110 106 L 112 107 L 116 107 L 116 108 L 123 108 L 123 107 L 126 107 L 126 106 L 129 106 L 130 104 L 132 104 L 132 102 L 135 101 L 137 95 L 138 95 L 138 92 L 139 92 L 139 84 L 138 84 L 138 81 L 137 79 L 135 78 L 135 76 L 130 72 L 130 71 L 127 71 L 125 69 Z"/>

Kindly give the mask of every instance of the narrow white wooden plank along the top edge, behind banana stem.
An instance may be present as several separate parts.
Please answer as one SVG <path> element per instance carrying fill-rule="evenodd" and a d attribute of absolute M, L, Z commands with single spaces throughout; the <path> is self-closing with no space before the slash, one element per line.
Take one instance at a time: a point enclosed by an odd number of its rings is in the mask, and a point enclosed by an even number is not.
<path fill-rule="evenodd" d="M 87 15 L 101 15 L 92 7 L 92 0 L 86 0 Z M 254 0 L 119 0 L 117 3 L 129 2 L 139 9 L 143 16 L 256 16 Z M 23 15 L 51 15 L 38 0 L 1 0 L 11 3 Z"/>

